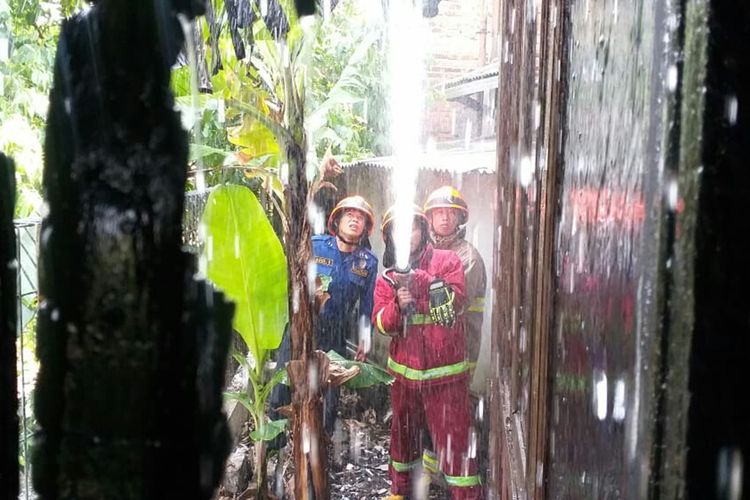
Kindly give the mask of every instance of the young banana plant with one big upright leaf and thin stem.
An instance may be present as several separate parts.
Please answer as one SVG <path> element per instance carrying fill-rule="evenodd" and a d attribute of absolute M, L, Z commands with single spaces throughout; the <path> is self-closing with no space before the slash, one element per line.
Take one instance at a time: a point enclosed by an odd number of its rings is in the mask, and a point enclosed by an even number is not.
<path fill-rule="evenodd" d="M 209 195 L 202 219 L 207 277 L 235 303 L 232 326 L 249 356 L 235 353 L 247 369 L 248 392 L 226 393 L 244 405 L 254 423 L 258 496 L 266 484 L 264 441 L 284 430 L 285 421 L 269 422 L 266 401 L 283 372 L 268 377 L 267 354 L 278 348 L 288 320 L 286 257 L 263 207 L 250 189 L 217 186 Z"/>

